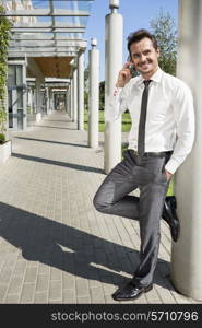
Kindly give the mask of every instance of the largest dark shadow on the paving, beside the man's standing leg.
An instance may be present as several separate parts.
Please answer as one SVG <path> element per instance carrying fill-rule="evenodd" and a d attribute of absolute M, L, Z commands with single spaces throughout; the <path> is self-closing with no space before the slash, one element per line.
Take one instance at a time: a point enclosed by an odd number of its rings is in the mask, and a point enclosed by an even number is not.
<path fill-rule="evenodd" d="M 139 253 L 132 248 L 2 202 L 0 235 L 20 248 L 27 260 L 110 284 L 126 282 L 122 273 L 132 276 L 139 261 Z M 157 267 L 164 266 L 168 271 L 167 265 L 159 259 Z M 158 272 L 154 282 L 171 289 L 166 280 Z"/>

